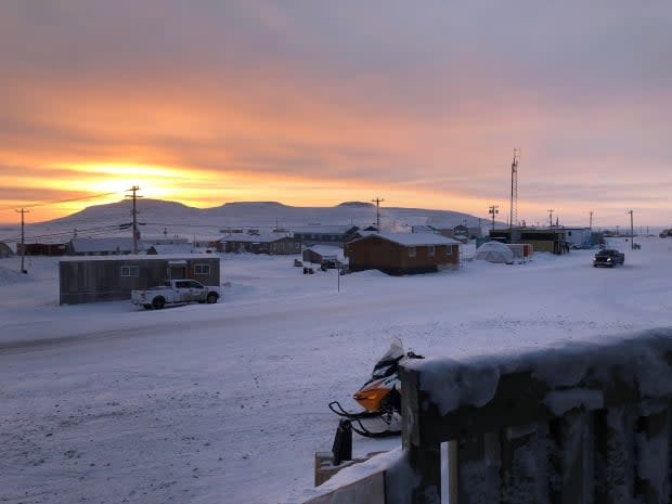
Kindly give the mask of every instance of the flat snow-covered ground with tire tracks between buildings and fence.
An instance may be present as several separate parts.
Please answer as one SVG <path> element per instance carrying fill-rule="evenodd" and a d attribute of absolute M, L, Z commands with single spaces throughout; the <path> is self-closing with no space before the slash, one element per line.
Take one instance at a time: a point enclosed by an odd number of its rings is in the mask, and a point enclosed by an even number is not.
<path fill-rule="evenodd" d="M 395 336 L 460 359 L 671 325 L 672 241 L 639 242 L 612 241 L 616 269 L 573 250 L 403 277 L 227 255 L 220 303 L 161 311 L 60 307 L 57 260 L 0 259 L 0 503 L 300 502 L 327 403 L 356 409 Z"/>

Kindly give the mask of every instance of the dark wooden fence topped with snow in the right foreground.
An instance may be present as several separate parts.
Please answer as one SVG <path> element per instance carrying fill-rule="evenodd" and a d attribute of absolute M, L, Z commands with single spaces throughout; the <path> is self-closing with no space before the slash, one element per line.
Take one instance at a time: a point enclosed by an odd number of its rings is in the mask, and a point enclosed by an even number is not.
<path fill-rule="evenodd" d="M 406 363 L 411 502 L 439 495 L 448 441 L 461 504 L 668 502 L 672 328 L 604 341 Z"/>

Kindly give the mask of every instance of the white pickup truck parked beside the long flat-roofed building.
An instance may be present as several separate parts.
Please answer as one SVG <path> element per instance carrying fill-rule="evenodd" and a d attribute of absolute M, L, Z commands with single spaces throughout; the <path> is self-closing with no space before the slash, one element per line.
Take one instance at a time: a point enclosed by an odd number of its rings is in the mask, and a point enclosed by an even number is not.
<path fill-rule="evenodd" d="M 165 285 L 131 290 L 131 301 L 145 309 L 160 310 L 166 305 L 185 302 L 217 302 L 219 287 L 203 285 L 195 280 L 170 280 Z"/>

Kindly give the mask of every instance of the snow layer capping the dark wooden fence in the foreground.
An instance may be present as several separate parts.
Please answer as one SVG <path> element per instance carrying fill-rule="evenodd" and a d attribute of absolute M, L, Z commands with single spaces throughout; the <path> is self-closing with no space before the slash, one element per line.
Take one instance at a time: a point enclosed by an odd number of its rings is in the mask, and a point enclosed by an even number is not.
<path fill-rule="evenodd" d="M 618 339 L 569 341 L 522 354 L 500 353 L 462 361 L 429 358 L 404 367 L 421 373 L 422 390 L 445 415 L 464 405 L 482 406 L 494 397 L 500 377 L 530 373 L 546 384 L 544 403 L 555 414 L 574 408 L 604 406 L 603 390 L 611 384 L 632 384 L 642 397 L 672 395 L 672 328 L 638 332 Z M 583 388 L 582 384 L 593 385 Z M 570 390 L 557 390 L 576 387 Z"/>

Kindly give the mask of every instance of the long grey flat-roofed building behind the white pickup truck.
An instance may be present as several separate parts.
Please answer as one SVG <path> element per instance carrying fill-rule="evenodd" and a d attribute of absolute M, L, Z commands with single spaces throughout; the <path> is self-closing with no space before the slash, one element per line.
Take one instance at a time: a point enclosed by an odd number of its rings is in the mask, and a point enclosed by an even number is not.
<path fill-rule="evenodd" d="M 63 259 L 59 262 L 60 303 L 130 299 L 132 289 L 176 279 L 220 285 L 219 275 L 219 257 L 212 255 Z"/>

